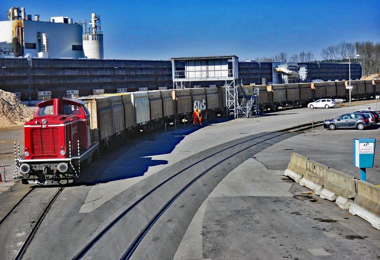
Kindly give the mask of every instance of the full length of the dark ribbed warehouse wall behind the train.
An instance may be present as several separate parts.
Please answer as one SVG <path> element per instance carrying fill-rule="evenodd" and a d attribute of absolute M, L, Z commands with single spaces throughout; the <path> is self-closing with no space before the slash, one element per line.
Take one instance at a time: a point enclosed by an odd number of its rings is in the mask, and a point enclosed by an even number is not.
<path fill-rule="evenodd" d="M 310 79 L 348 80 L 348 64 L 306 64 Z M 232 63 L 230 64 L 232 67 Z M 37 91 L 52 91 L 52 96 L 62 96 L 66 90 L 79 90 L 80 95 L 92 94 L 93 89 L 114 93 L 116 88 L 137 91 L 173 86 L 171 61 L 97 60 L 97 59 L 32 59 L 0 58 L 0 89 L 21 92 L 22 100 L 28 98 L 28 77 L 32 99 Z M 272 63 L 239 62 L 239 77 L 245 85 L 262 84 L 262 78 L 272 82 Z M 28 76 L 29 74 L 29 76 Z M 351 78 L 360 79 L 360 64 L 351 64 Z M 197 85 L 223 85 L 224 82 L 201 82 Z"/>

